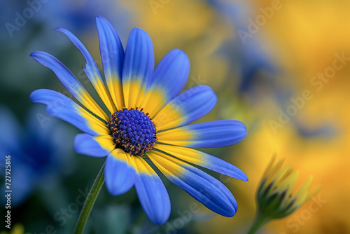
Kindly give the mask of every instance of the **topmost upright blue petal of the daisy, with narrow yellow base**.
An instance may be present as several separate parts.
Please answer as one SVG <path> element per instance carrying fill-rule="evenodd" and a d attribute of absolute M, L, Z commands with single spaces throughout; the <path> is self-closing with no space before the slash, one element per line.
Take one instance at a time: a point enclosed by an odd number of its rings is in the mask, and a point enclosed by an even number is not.
<path fill-rule="evenodd" d="M 124 106 L 122 71 L 124 60 L 124 49 L 119 36 L 113 26 L 102 17 L 96 18 L 97 29 L 99 31 L 99 50 L 101 53 L 102 64 L 104 66 L 104 76 L 111 93 L 111 97 L 122 109 Z"/>

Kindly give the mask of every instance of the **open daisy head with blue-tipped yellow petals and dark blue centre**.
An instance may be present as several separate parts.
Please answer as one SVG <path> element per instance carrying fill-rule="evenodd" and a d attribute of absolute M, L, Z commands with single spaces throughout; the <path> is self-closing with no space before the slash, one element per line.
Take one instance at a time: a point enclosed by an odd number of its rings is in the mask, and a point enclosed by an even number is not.
<path fill-rule="evenodd" d="M 153 43 L 144 30 L 130 32 L 125 50 L 111 24 L 97 17 L 104 78 L 83 43 L 66 34 L 83 53 L 85 73 L 104 106 L 97 104 L 62 62 L 48 53 L 31 53 L 34 60 L 55 72 L 80 104 L 53 90 L 35 90 L 33 102 L 82 130 L 74 146 L 78 153 L 106 157 L 104 177 L 112 195 L 135 186 L 141 206 L 155 224 L 167 221 L 170 200 L 167 189 L 149 163 L 176 186 L 223 216 L 234 216 L 237 202 L 218 179 L 193 165 L 247 181 L 234 165 L 193 148 L 229 146 L 246 137 L 239 121 L 223 120 L 187 125 L 206 115 L 216 104 L 207 85 L 182 92 L 190 62 L 179 49 L 170 51 L 155 67 Z"/>

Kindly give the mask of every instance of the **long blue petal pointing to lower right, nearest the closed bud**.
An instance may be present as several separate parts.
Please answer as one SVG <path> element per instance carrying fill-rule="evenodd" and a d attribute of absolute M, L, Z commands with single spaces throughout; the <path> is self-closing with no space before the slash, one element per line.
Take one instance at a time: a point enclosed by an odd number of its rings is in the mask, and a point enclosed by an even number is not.
<path fill-rule="evenodd" d="M 149 158 L 172 181 L 212 211 L 223 216 L 234 216 L 237 202 L 220 181 L 177 158 L 150 151 Z"/>

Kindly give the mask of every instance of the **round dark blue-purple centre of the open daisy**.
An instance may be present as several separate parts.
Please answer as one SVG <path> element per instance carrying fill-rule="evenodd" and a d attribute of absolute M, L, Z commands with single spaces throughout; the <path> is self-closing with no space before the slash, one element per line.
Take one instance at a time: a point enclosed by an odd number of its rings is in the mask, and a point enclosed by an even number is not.
<path fill-rule="evenodd" d="M 144 156 L 157 142 L 155 125 L 142 109 L 123 109 L 112 114 L 108 122 L 116 149 L 130 155 Z"/>

